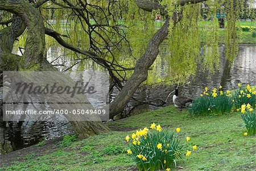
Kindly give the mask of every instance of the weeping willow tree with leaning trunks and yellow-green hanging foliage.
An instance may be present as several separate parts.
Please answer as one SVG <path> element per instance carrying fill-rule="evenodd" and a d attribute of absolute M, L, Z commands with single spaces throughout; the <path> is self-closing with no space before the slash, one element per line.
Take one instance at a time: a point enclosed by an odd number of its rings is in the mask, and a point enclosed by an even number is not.
<path fill-rule="evenodd" d="M 71 61 L 68 70 L 92 65 L 108 70 L 113 86 L 120 90 L 110 103 L 111 118 L 124 109 L 142 82 L 162 79 L 155 70 L 159 48 L 167 51 L 165 80 L 182 83 L 180 80 L 195 74 L 199 62 L 213 72 L 220 59 L 216 12 L 221 8 L 226 12 L 226 55 L 230 61 L 237 54 L 237 20 L 245 11 L 249 16 L 253 13 L 243 9 L 244 2 L 238 0 L 0 2 L 0 71 L 57 70 L 47 60 L 47 51 L 61 46 L 61 53 Z M 162 16 L 159 22 L 156 16 Z M 200 56 L 202 32 L 207 35 L 204 56 Z M 18 48 L 23 49 L 22 55 L 16 55 Z M 61 72 L 50 77 L 63 77 L 64 82 L 74 84 Z M 80 137 L 108 130 L 101 122 L 71 124 Z"/>

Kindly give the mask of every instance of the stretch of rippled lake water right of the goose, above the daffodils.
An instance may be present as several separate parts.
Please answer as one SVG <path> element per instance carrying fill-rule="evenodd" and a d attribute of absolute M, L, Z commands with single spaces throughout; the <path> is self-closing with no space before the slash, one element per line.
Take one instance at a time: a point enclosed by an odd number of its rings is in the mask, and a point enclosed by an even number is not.
<path fill-rule="evenodd" d="M 183 86 L 182 93 L 192 98 L 199 97 L 203 88 L 210 89 L 222 85 L 224 89 L 234 89 L 238 82 L 243 85 L 256 84 L 256 47 L 255 45 L 243 45 L 239 47 L 238 56 L 233 64 L 225 59 L 225 47 L 220 47 L 221 62 L 220 71 L 208 77 L 207 72 L 199 70 L 191 84 Z"/>

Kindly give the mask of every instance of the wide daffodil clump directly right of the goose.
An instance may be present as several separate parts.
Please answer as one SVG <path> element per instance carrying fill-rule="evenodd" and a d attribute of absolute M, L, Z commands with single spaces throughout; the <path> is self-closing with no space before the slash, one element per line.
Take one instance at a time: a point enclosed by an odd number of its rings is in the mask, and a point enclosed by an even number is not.
<path fill-rule="evenodd" d="M 224 91 L 219 86 L 218 89 L 208 91 L 208 87 L 205 87 L 200 97 L 189 106 L 189 112 L 195 115 L 226 114 L 230 113 L 232 106 L 232 94 L 229 90 Z"/>

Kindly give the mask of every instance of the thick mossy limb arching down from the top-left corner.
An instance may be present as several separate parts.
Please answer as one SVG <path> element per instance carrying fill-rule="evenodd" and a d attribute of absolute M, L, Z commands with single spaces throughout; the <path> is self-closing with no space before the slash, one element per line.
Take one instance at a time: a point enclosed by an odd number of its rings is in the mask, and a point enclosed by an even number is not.
<path fill-rule="evenodd" d="M 27 39 L 25 51 L 22 59 L 22 68 L 27 68 L 27 64 L 40 64 L 43 61 L 45 48 L 44 23 L 40 12 L 25 0 L 2 0 L 0 10 L 12 12 L 22 18 L 27 25 Z"/>

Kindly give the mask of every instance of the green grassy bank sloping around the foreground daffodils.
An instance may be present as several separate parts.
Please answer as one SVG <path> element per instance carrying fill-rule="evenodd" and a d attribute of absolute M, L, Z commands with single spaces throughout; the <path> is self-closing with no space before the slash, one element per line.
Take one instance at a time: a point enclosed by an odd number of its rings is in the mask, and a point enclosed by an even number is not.
<path fill-rule="evenodd" d="M 152 122 L 172 130 L 180 127 L 184 137 L 191 137 L 189 143 L 197 145 L 196 152 L 177 162 L 183 168 L 180 170 L 256 169 L 256 138 L 243 136 L 246 129 L 241 127 L 239 113 L 195 118 L 187 110 L 168 106 L 110 122 L 113 131 L 88 139 L 41 143 L 29 150 L 9 153 L 1 158 L 2 170 L 137 170 L 126 155 L 124 137 Z"/>

